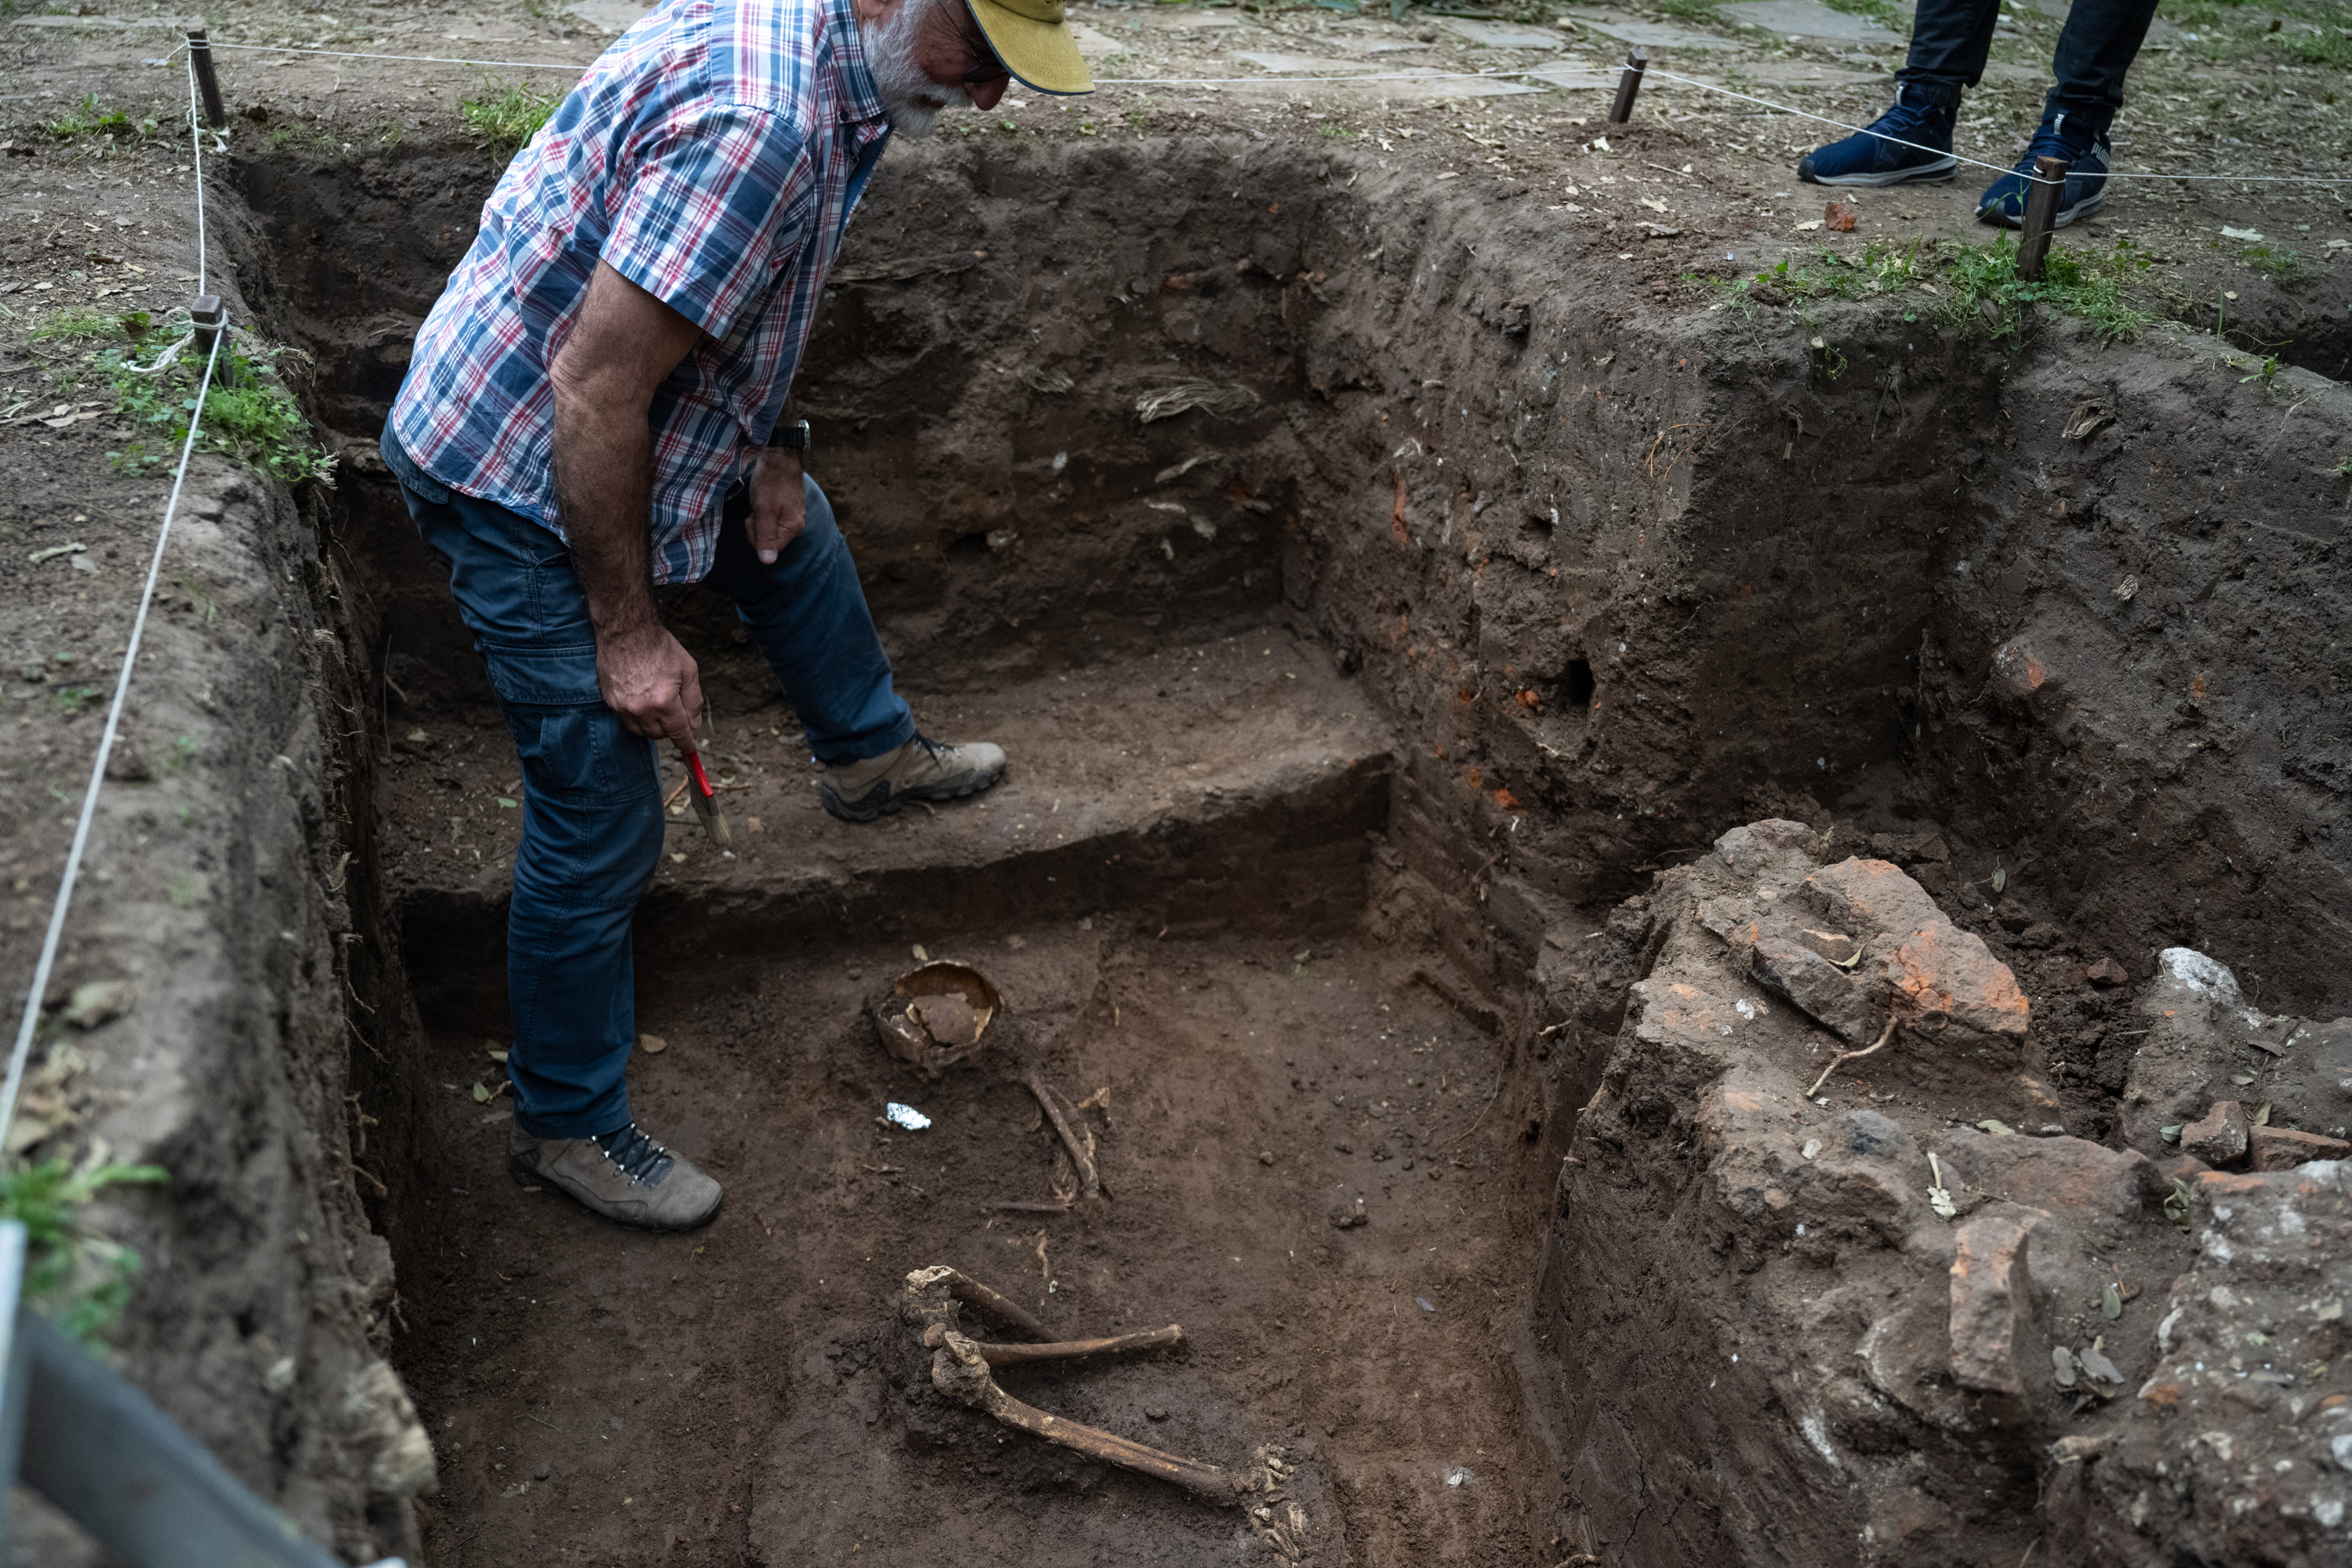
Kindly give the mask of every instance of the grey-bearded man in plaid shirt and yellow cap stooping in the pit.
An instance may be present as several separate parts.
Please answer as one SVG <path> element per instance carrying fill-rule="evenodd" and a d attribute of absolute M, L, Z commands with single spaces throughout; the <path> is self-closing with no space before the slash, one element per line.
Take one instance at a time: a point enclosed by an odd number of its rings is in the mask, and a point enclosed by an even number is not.
<path fill-rule="evenodd" d="M 670 0 L 506 169 L 393 402 L 383 458 L 522 757 L 508 1168 L 623 1225 L 720 1208 L 635 1126 L 623 1077 L 656 748 L 689 750 L 701 715 L 654 585 L 736 602 L 833 816 L 1004 776 L 995 745 L 917 733 L 783 409 L 889 136 L 993 108 L 1007 78 L 1091 87 L 1063 0 Z"/>

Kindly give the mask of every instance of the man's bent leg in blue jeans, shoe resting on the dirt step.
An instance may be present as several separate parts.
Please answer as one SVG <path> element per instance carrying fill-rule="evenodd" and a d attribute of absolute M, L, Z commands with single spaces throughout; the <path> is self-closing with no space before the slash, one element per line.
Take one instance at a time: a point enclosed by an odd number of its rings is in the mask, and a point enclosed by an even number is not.
<path fill-rule="evenodd" d="M 889 656 L 858 585 L 849 541 L 816 480 L 802 480 L 807 527 L 762 567 L 743 520 L 750 496 L 727 496 L 717 557 L 703 588 L 736 602 L 736 616 L 800 715 L 809 752 L 826 766 L 826 811 L 870 823 L 910 799 L 957 799 L 1004 776 L 1004 752 L 985 741 L 946 745 L 915 731 L 891 686 Z"/>

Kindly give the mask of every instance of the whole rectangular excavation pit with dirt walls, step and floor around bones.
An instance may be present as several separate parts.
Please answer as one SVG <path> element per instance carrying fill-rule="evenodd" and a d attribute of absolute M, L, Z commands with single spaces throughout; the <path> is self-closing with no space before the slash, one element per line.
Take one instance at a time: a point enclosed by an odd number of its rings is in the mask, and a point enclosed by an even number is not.
<path fill-rule="evenodd" d="M 736 839 L 673 813 L 637 926 L 668 1051 L 633 1093 L 729 1201 L 691 1239 L 614 1232 L 517 1190 L 475 1093 L 520 780 L 365 456 L 482 165 L 240 181 L 252 301 L 350 437 L 353 889 L 397 936 L 355 1086 L 440 1448 L 430 1561 L 1275 1549 L 941 1403 L 889 1314 L 931 1262 L 1056 1335 L 1181 1321 L 1174 1354 L 1025 1368 L 1021 1396 L 1221 1465 L 1282 1446 L 1308 1561 L 1762 1561 L 1797 1530 L 1773 1509 L 1820 1521 L 1797 1556 L 1917 1514 L 1910 1561 L 2016 1561 L 2044 1528 L 2023 1446 L 1900 1514 L 1933 1422 L 1820 1425 L 1750 1349 L 1766 1436 L 1731 1441 L 1715 1385 L 1661 1371 L 1764 1333 L 1743 1291 L 1809 1286 L 1743 1284 L 1766 1262 L 1729 1241 L 1691 1262 L 1691 1103 L 1611 1112 L 1649 1152 L 1585 1166 L 1581 1112 L 1642 1072 L 1635 987 L 1689 931 L 1653 900 L 1752 820 L 1900 865 L 2013 969 L 2049 1126 L 2093 1143 L 2129 1138 L 2159 947 L 2225 952 L 2263 1009 L 2343 1006 L 2345 607 L 2314 597 L 2340 393 L 2274 428 L 2194 355 L 2065 322 L 2006 353 L 1867 306 L 1811 336 L 1651 313 L 1534 202 L 1284 146 L 910 148 L 800 407 L 920 722 L 1011 773 L 833 823 L 724 604 L 666 595 Z M 917 950 L 1002 983 L 1018 1058 L 993 1034 L 924 1081 L 880 1048 L 866 1006 Z M 2133 985 L 2091 983 L 2117 959 Z M 1082 1107 L 1108 1197 L 1040 1208 L 1054 1131 L 1016 1063 Z"/>

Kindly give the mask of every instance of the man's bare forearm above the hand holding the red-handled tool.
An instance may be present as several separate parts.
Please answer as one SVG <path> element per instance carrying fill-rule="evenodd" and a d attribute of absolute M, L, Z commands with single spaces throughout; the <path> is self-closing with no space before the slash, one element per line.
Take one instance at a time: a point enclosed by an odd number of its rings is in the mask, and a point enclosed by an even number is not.
<path fill-rule="evenodd" d="M 644 409 L 555 395 L 555 505 L 597 642 L 659 625 L 652 574 L 654 440 Z"/>

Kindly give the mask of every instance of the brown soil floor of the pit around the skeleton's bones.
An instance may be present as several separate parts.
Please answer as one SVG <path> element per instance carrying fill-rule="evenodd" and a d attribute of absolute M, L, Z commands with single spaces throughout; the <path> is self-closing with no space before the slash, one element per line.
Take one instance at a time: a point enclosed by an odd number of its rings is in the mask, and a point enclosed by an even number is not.
<path fill-rule="evenodd" d="M 421 1154 L 447 1192 L 405 1269 L 430 1561 L 1197 1563 L 1247 1540 L 1235 1509 L 943 1420 L 889 1305 L 931 1262 L 1073 1338 L 1183 1324 L 1178 1352 L 1002 1382 L 1221 1465 L 1284 1446 L 1348 1561 L 1536 1561 L 1550 1467 L 1512 1349 L 1543 1185 L 1484 1114 L 1503 1046 L 1359 936 L 1089 917 L 929 950 L 981 964 L 1016 1020 L 1035 999 L 1070 1023 L 922 1084 L 863 1011 L 901 945 L 640 976 L 668 1048 L 637 1053 L 635 1112 L 727 1182 L 694 1237 L 517 1190 L 506 1114 L 468 1093 L 482 1030 L 430 1030 Z M 1021 1058 L 1091 1103 L 1108 1199 L 985 1211 L 1051 1199 Z M 931 1126 L 889 1128 L 889 1100 Z"/>

